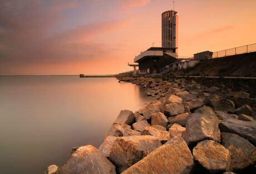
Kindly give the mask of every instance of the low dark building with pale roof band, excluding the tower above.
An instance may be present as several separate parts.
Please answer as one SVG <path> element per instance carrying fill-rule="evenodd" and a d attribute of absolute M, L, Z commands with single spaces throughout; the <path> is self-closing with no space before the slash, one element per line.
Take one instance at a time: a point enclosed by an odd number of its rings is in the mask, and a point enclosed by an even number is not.
<path fill-rule="evenodd" d="M 151 47 L 137 56 L 134 62 L 139 63 L 139 74 L 156 74 L 160 69 L 175 62 L 176 48 Z"/>

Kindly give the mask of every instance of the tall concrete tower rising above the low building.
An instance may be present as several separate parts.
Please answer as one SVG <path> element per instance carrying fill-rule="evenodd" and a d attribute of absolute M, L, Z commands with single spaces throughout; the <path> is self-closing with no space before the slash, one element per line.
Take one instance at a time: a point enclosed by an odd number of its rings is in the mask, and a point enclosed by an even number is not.
<path fill-rule="evenodd" d="M 178 48 L 178 12 L 162 13 L 162 47 Z"/>

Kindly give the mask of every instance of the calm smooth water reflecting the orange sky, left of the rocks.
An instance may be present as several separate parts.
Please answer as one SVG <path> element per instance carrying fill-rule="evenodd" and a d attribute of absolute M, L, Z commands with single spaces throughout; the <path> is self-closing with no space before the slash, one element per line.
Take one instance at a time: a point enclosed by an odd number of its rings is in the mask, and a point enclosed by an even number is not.
<path fill-rule="evenodd" d="M 153 100 L 114 78 L 0 76 L 0 173 L 62 166 L 72 147 L 99 147 L 120 110 Z"/>

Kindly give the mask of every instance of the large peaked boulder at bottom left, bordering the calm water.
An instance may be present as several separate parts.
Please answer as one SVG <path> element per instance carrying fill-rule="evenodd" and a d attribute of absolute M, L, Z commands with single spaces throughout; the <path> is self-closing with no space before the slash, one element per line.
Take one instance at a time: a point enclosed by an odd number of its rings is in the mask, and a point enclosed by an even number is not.
<path fill-rule="evenodd" d="M 79 147 L 61 167 L 62 173 L 116 173 L 115 166 L 95 147 Z"/>

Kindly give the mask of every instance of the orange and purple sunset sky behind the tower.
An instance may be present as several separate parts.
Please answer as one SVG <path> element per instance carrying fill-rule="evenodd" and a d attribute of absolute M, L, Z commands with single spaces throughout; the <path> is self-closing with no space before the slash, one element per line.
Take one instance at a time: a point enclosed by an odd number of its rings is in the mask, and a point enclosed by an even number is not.
<path fill-rule="evenodd" d="M 116 74 L 155 43 L 170 0 L 1 0 L 0 75 Z M 176 0 L 179 56 L 256 43 L 255 0 Z"/>

